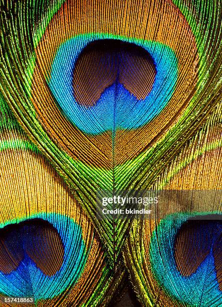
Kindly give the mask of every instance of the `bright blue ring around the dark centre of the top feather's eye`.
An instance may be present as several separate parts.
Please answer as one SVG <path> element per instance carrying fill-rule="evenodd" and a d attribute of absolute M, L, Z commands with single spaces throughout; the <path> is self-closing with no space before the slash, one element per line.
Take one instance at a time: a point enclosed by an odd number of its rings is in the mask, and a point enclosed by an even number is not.
<path fill-rule="evenodd" d="M 151 92 L 137 100 L 123 85 L 104 90 L 91 107 L 79 105 L 73 95 L 73 71 L 82 50 L 95 40 L 118 39 L 144 48 L 152 57 L 156 76 Z M 137 129 L 156 117 L 169 102 L 177 81 L 177 58 L 168 46 L 155 41 L 143 41 L 110 34 L 85 34 L 61 44 L 52 63 L 47 80 L 63 114 L 81 131 L 97 135 L 108 130 Z"/>

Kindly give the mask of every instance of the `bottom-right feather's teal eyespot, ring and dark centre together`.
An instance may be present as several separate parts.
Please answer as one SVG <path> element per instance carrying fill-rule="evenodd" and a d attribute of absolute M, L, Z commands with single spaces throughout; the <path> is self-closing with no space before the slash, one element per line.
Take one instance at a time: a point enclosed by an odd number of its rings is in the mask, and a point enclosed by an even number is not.
<path fill-rule="evenodd" d="M 170 297 L 188 306 L 222 303 L 221 230 L 221 215 L 207 213 L 159 224 L 151 238 L 150 262 L 159 286 Z"/>

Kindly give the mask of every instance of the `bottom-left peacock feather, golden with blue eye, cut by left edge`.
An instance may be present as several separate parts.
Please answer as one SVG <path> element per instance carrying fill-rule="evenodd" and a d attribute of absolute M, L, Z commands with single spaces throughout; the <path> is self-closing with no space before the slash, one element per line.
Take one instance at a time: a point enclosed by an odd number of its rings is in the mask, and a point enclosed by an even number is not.
<path fill-rule="evenodd" d="M 89 218 L 2 96 L 1 116 L 1 296 L 40 306 L 108 303 L 124 268 L 113 274 Z"/>

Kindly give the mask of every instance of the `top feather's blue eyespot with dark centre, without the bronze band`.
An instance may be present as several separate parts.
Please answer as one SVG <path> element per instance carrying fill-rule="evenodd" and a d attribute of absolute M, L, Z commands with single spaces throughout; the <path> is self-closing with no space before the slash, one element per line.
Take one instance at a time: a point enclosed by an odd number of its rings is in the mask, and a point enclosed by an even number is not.
<path fill-rule="evenodd" d="M 63 43 L 49 87 L 74 126 L 92 135 L 110 131 L 115 139 L 116 131 L 144 126 L 165 107 L 176 84 L 177 59 L 167 50 L 160 60 L 164 46 L 156 43 L 92 39 Z"/>

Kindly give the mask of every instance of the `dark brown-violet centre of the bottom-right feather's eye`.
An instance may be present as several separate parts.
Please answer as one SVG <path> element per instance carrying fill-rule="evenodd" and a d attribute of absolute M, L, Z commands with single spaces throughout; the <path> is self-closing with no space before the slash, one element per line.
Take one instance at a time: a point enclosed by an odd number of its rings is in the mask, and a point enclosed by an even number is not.
<path fill-rule="evenodd" d="M 212 251 L 216 278 L 222 291 L 222 221 L 219 218 L 211 215 L 187 220 L 176 235 L 174 256 L 180 273 L 190 276 Z"/>

